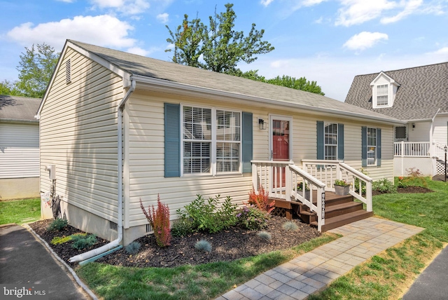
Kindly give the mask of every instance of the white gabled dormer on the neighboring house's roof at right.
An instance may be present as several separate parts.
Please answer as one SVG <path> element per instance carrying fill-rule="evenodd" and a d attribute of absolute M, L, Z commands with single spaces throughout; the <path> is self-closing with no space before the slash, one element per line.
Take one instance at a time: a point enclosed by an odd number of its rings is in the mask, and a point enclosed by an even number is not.
<path fill-rule="evenodd" d="M 372 108 L 380 109 L 393 106 L 393 100 L 395 100 L 395 94 L 400 84 L 381 71 L 370 83 L 370 86 L 372 87 Z"/>

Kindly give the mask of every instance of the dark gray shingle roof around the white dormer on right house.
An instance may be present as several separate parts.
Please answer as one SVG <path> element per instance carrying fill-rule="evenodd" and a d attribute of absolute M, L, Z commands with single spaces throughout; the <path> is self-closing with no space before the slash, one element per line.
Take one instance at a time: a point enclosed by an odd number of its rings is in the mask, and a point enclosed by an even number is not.
<path fill-rule="evenodd" d="M 448 62 L 384 73 L 400 83 L 393 107 L 372 109 L 370 83 L 379 73 L 355 76 L 345 102 L 403 121 L 433 118 L 438 109 L 448 112 Z"/>

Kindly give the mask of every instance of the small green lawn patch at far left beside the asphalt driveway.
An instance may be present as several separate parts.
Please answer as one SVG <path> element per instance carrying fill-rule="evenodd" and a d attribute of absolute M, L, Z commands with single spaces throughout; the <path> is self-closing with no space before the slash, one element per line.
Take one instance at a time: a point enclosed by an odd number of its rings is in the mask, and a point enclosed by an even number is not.
<path fill-rule="evenodd" d="M 0 201 L 0 225 L 22 225 L 38 219 L 41 219 L 41 198 Z"/>

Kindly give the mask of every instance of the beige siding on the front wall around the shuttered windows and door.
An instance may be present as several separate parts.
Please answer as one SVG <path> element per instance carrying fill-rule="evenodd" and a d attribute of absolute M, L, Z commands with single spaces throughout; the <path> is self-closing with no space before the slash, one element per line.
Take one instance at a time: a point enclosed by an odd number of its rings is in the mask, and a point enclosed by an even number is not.
<path fill-rule="evenodd" d="M 374 179 L 393 179 L 393 125 L 381 126 L 363 121 L 347 121 L 334 115 L 316 116 L 299 109 L 278 109 L 276 107 L 254 107 L 247 102 L 211 102 L 210 100 L 172 97 L 155 93 L 134 92 L 125 109 L 125 228 L 144 225 L 147 221 L 141 212 L 139 199 L 148 205 L 157 205 L 160 193 L 162 203 L 170 208 L 172 219 L 176 210 L 183 208 L 199 193 L 204 198 L 221 194 L 223 200 L 230 196 L 234 203 L 248 200 L 252 187 L 251 174 L 244 175 L 185 175 L 164 177 L 164 103 L 214 106 L 223 109 L 248 111 L 253 114 L 253 159 L 269 160 L 269 124 L 267 130 L 258 128 L 258 118 L 269 123 L 269 114 L 293 117 L 293 156 L 291 159 L 302 167 L 302 159 L 316 159 L 316 121 L 344 123 L 345 161 L 353 168 L 361 168 L 361 127 L 381 128 L 381 167 L 369 167 L 367 172 Z"/>

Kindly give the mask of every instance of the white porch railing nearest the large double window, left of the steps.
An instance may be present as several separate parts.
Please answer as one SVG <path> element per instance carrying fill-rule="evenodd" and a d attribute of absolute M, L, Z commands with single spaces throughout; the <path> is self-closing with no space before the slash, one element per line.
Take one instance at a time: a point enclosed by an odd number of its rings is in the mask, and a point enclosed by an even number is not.
<path fill-rule="evenodd" d="M 294 165 L 293 161 L 251 161 L 252 184 L 255 191 L 262 186 L 272 198 L 290 201 L 300 200 L 311 212 L 316 212 L 317 229 L 325 224 L 325 184 Z M 303 191 L 297 191 L 297 183 L 302 182 Z M 316 205 L 313 193 L 306 193 L 307 187 L 316 190 Z"/>

